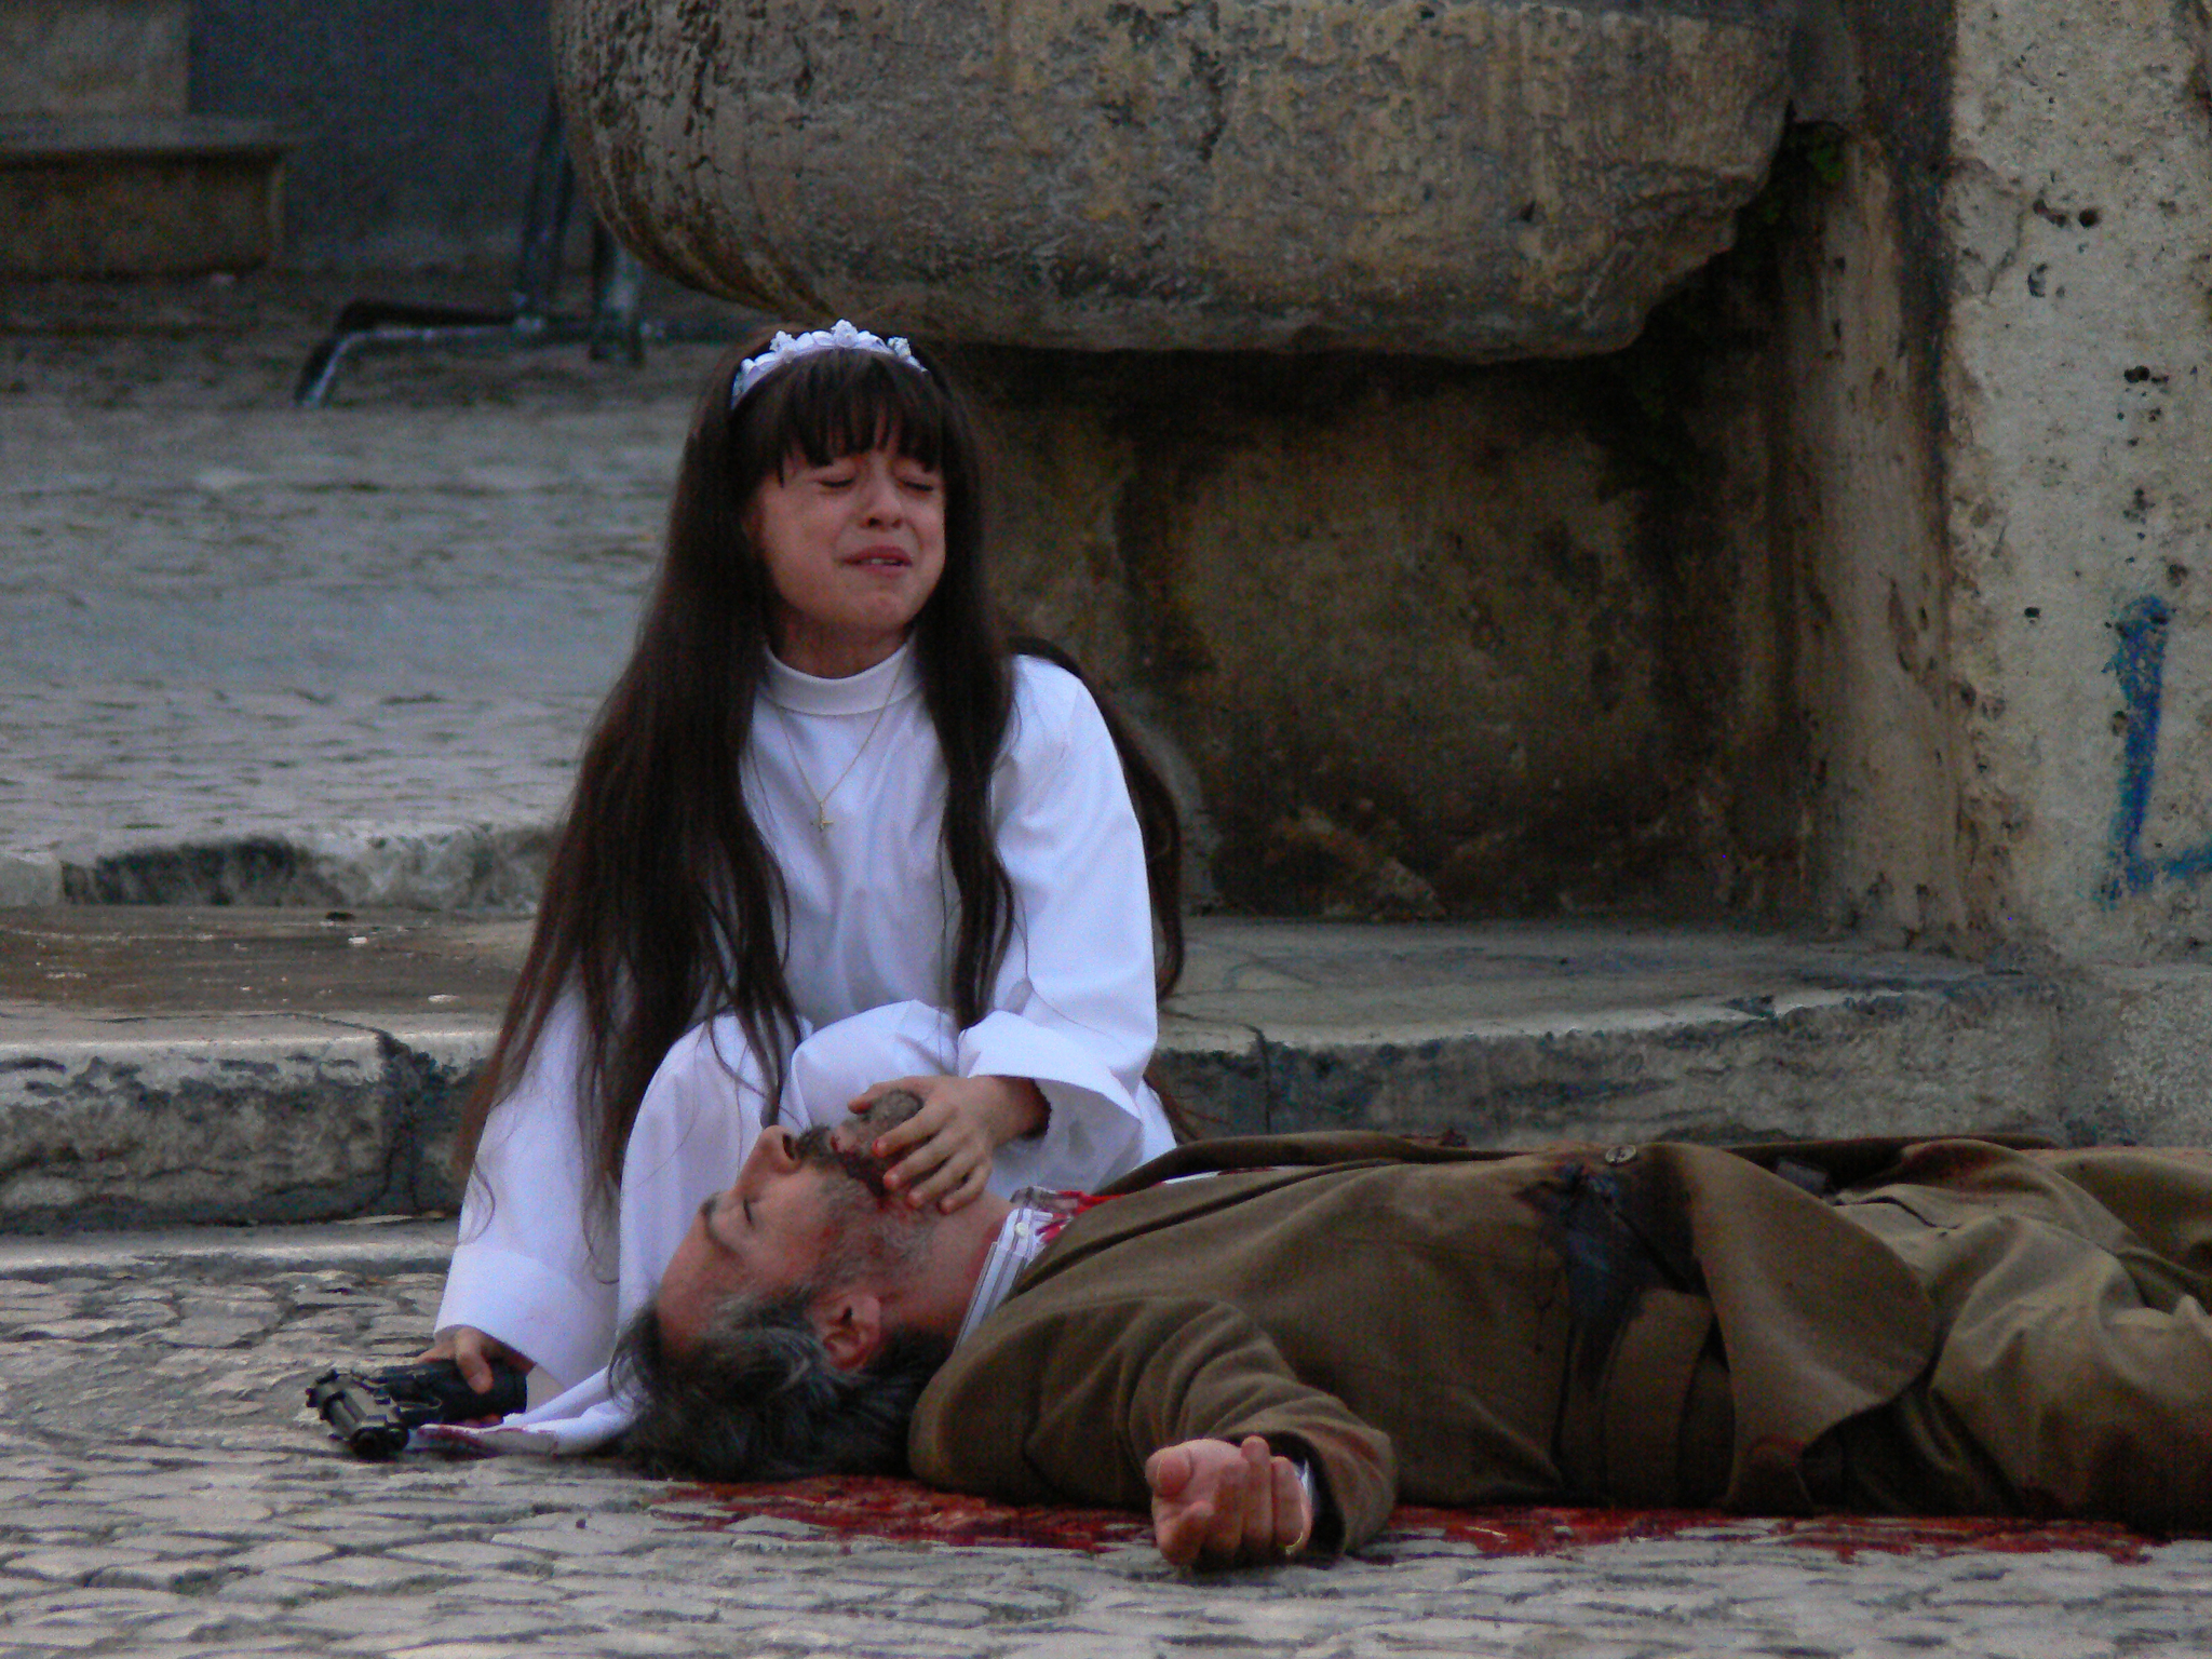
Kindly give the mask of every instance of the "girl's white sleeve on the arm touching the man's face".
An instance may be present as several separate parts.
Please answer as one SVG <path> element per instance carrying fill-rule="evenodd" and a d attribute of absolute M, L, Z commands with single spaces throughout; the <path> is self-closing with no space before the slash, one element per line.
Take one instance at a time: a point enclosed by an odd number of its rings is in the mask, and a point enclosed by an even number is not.
<path fill-rule="evenodd" d="M 1097 703 L 1026 657 L 993 816 L 1015 927 L 993 1011 L 960 1033 L 958 1071 L 1044 1091 L 1044 1133 L 1002 1150 L 1018 1186 L 1097 1186 L 1175 1144 L 1144 1084 L 1159 1040 L 1144 838 Z"/>

